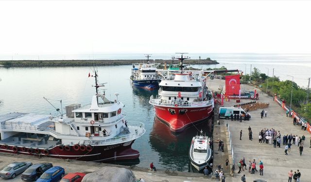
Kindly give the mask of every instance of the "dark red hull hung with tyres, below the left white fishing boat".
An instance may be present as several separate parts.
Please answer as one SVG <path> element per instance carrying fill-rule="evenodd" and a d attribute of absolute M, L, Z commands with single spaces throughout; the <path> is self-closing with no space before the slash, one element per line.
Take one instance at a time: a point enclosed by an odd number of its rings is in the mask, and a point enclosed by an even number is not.
<path fill-rule="evenodd" d="M 46 157 L 60 158 L 60 159 L 71 159 L 79 161 L 90 161 L 90 162 L 108 162 L 108 161 L 117 161 L 117 160 L 128 160 L 128 159 L 137 159 L 139 157 L 139 152 L 135 149 L 132 149 L 132 144 L 134 140 L 120 143 L 112 144 L 105 146 L 91 146 L 91 149 L 84 150 L 74 149 L 74 145 L 69 145 L 69 149 L 61 148 L 61 145 L 57 145 L 51 149 L 48 149 L 48 154 L 45 153 L 44 149 L 38 148 L 35 150 L 35 147 L 32 146 L 33 152 L 29 151 L 30 147 L 21 147 L 13 145 L 4 145 L 0 144 L 0 152 L 7 153 L 17 153 L 25 155 L 41 155 Z M 14 149 L 14 147 L 17 148 Z"/>

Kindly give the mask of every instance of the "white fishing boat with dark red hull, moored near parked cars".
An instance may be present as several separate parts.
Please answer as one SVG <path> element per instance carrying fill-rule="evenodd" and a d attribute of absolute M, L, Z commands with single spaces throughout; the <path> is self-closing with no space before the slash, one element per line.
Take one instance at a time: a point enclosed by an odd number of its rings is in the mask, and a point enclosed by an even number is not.
<path fill-rule="evenodd" d="M 145 133 L 144 124 L 126 122 L 119 94 L 108 100 L 98 92 L 104 84 L 97 83 L 96 71 L 94 78 L 91 104 L 66 106 L 64 115 L 60 109 L 58 116 L 0 115 L 0 152 L 92 162 L 137 159 L 139 152 L 131 146 Z"/>

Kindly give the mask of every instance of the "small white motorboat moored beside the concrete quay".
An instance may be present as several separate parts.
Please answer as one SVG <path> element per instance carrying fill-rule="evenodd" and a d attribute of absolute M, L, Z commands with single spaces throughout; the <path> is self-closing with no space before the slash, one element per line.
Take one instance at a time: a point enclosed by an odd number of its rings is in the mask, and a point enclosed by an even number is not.
<path fill-rule="evenodd" d="M 203 135 L 201 130 L 200 135 L 193 136 L 189 150 L 190 163 L 198 171 L 209 165 L 212 159 L 212 149 L 209 147 L 210 138 Z M 209 165 L 210 166 L 210 165 Z"/>

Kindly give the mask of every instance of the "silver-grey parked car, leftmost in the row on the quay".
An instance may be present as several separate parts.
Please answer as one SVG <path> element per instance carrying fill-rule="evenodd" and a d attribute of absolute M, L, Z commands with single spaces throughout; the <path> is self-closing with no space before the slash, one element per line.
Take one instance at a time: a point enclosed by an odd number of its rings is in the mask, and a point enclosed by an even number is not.
<path fill-rule="evenodd" d="M 24 172 L 31 165 L 33 165 L 33 163 L 24 163 L 24 162 L 11 163 L 0 171 L 0 177 L 5 179 L 15 178 L 16 175 Z"/>

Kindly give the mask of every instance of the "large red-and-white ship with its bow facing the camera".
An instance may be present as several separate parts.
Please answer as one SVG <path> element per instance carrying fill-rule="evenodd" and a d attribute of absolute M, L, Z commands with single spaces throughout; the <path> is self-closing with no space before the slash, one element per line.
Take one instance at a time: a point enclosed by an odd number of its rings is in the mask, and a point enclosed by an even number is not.
<path fill-rule="evenodd" d="M 156 97 L 151 96 L 149 103 L 155 107 L 155 115 L 165 121 L 172 132 L 181 132 L 192 123 L 207 119 L 213 114 L 214 99 L 207 90 L 207 77 L 204 72 L 175 73 L 174 80 L 162 80 Z"/>

